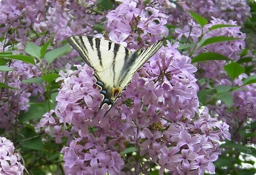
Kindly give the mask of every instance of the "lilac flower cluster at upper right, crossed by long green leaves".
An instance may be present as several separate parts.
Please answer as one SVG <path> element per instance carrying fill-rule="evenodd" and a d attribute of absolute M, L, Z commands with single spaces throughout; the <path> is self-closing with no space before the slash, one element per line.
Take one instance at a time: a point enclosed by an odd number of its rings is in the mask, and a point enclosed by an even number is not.
<path fill-rule="evenodd" d="M 226 56 L 229 59 L 237 61 L 240 57 L 239 54 L 245 49 L 245 37 L 246 34 L 240 31 L 240 26 L 234 27 L 223 27 L 217 28 L 214 30 L 209 31 L 209 28 L 213 25 L 236 25 L 234 21 L 229 20 L 225 22 L 224 20 L 220 20 L 218 18 L 214 18 L 211 23 L 207 24 L 203 28 L 200 25 L 195 25 L 192 23 L 191 25 L 185 25 L 183 29 L 177 28 L 175 29 L 176 33 L 178 34 L 178 40 L 182 40 L 182 37 L 190 38 L 192 43 L 198 42 L 199 38 L 203 36 L 201 39 L 207 39 L 214 36 L 227 36 L 227 37 L 234 37 L 234 38 L 241 38 L 239 40 L 234 41 L 226 41 L 226 42 L 218 42 L 214 44 L 210 44 L 200 49 L 196 49 L 195 52 L 192 53 L 193 56 L 198 55 L 199 53 L 208 51 L 208 52 L 215 52 L 220 53 Z M 212 77 L 217 78 L 224 74 L 223 66 L 226 64 L 226 61 L 221 60 L 214 60 L 214 61 L 207 61 L 206 63 L 198 63 L 198 69 L 200 69 L 200 77 Z"/>

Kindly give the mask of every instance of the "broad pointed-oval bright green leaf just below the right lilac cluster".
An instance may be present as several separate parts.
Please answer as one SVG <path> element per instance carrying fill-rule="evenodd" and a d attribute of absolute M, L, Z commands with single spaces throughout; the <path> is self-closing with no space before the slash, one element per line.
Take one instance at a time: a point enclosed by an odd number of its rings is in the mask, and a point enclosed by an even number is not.
<path fill-rule="evenodd" d="M 225 65 L 224 70 L 232 80 L 234 80 L 237 76 L 245 73 L 245 68 L 243 68 L 236 62 L 231 62 Z"/>

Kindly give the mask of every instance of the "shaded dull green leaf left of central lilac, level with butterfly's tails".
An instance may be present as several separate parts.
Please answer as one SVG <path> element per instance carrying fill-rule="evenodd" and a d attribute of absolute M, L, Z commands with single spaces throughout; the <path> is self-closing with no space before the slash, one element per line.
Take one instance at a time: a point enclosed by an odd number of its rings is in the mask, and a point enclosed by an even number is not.
<path fill-rule="evenodd" d="M 27 122 L 29 120 L 41 119 L 46 112 L 48 110 L 44 107 L 44 103 L 32 103 L 28 112 L 21 112 L 19 121 Z"/>

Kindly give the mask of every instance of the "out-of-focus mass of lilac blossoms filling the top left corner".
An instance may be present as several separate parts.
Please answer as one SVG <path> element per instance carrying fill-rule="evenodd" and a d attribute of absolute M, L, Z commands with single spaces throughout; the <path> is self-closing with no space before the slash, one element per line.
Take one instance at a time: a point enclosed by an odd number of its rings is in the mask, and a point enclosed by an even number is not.
<path fill-rule="evenodd" d="M 92 11 L 95 0 L 83 2 L 87 5 L 79 0 L 1 0 L 0 24 L 4 26 L 0 28 L 0 36 L 15 28 L 15 34 L 9 32 L 6 37 L 18 41 L 19 49 L 24 50 L 28 40 L 40 45 L 54 35 L 55 44 L 59 44 L 72 34 L 93 33 L 93 25 L 103 16 Z M 36 37 L 31 38 L 31 33 Z"/>

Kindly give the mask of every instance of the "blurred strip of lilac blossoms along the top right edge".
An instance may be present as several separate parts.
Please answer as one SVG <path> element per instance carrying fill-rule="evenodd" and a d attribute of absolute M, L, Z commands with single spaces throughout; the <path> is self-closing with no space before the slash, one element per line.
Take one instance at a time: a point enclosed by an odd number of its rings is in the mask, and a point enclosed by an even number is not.
<path fill-rule="evenodd" d="M 183 10 L 171 3 L 165 4 L 168 8 L 163 9 L 170 14 L 168 22 L 171 24 L 188 24 L 191 20 L 189 10 L 209 20 L 216 17 L 236 21 L 239 25 L 243 25 L 246 18 L 251 17 L 247 0 L 178 0 L 177 3 Z"/>

